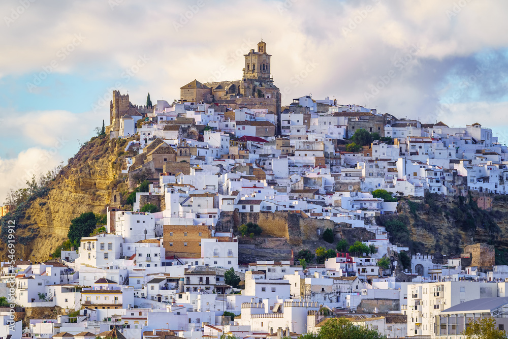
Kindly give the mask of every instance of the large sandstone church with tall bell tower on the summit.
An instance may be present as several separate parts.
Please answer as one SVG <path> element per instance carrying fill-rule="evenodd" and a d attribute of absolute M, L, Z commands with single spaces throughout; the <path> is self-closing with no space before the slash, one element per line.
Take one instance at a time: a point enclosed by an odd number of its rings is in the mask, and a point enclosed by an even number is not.
<path fill-rule="evenodd" d="M 215 103 L 231 109 L 267 109 L 280 114 L 280 90 L 270 75 L 270 57 L 266 43 L 244 54 L 245 65 L 241 80 L 201 83 L 197 80 L 180 87 L 180 98 L 188 102 Z"/>

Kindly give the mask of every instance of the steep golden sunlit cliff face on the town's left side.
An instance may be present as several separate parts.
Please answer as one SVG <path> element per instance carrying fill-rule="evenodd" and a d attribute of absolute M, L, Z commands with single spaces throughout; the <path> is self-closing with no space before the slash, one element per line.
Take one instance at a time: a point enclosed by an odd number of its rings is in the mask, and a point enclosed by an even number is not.
<path fill-rule="evenodd" d="M 83 212 L 105 213 L 113 190 L 121 186 L 120 167 L 126 140 L 96 137 L 81 147 L 49 183 L 46 196 L 32 200 L 16 220 L 15 258 L 47 260 L 67 239 L 71 220 Z M 5 259 L 5 243 L 0 243 Z"/>

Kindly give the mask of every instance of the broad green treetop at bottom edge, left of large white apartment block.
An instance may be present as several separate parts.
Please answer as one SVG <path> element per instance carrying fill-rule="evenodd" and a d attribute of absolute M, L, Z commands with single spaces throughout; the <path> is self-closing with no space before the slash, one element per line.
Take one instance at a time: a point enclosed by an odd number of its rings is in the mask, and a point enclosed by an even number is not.
<path fill-rule="evenodd" d="M 300 339 L 382 339 L 377 329 L 354 325 L 346 318 L 332 318 L 317 333 L 303 334 Z"/>

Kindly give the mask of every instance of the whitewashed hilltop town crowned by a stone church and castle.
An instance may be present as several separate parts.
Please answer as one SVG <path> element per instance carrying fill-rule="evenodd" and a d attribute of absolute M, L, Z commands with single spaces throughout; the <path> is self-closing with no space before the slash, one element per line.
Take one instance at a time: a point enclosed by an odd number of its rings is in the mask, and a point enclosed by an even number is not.
<path fill-rule="evenodd" d="M 488 317 L 504 329 L 508 149 L 492 129 L 309 95 L 282 106 L 266 43 L 244 57 L 240 80 L 195 79 L 174 102 L 113 91 L 84 146 L 118 147 L 109 203 L 75 215 L 51 258 L 15 254 L 34 238 L 5 255 L 0 336 L 281 339 L 334 317 L 389 338 L 458 338 Z M 97 189 L 87 171 L 76 191 Z M 5 243 L 25 205 L 0 210 Z M 432 233 L 423 210 L 492 241 L 428 248 L 408 231 Z"/>

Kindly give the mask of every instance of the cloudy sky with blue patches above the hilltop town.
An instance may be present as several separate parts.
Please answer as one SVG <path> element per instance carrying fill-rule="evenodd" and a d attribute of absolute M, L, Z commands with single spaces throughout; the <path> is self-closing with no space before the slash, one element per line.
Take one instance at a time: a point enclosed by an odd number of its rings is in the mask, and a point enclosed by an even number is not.
<path fill-rule="evenodd" d="M 508 142 L 507 14 L 502 0 L 3 0 L 0 202 L 108 125 L 114 89 L 144 105 L 238 80 L 261 39 L 282 105 L 329 97 Z"/>

